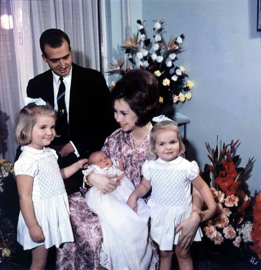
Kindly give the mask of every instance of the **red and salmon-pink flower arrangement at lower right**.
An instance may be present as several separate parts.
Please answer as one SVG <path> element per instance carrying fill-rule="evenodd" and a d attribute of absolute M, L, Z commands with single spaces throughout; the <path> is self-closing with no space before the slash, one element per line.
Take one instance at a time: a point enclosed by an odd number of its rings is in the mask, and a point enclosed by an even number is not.
<path fill-rule="evenodd" d="M 253 250 L 261 259 L 261 197 L 260 192 L 250 196 L 246 185 L 253 158 L 248 160 L 245 168 L 237 167 L 239 155 L 235 155 L 235 150 L 238 142 L 223 143 L 221 152 L 218 143 L 215 150 L 206 143 L 211 164 L 205 165 L 201 176 L 211 186 L 217 210 L 214 217 L 203 224 L 203 231 L 215 245 L 232 244 L 241 251 Z M 258 262 L 256 256 L 250 261 Z"/>

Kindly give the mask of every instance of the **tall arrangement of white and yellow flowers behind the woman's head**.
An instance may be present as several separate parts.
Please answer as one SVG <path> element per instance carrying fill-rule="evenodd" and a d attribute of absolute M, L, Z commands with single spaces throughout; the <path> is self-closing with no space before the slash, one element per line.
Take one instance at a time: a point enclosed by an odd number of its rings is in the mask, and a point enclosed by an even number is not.
<path fill-rule="evenodd" d="M 171 37 L 167 43 L 163 37 L 164 22 L 154 21 L 153 35 L 154 43 L 147 38 L 146 31 L 140 20 L 138 23 L 138 32 L 133 37 L 129 37 L 129 41 L 125 41 L 122 49 L 128 56 L 131 62 L 131 68 L 123 69 L 123 61 L 119 59 L 116 63 L 111 63 L 110 74 L 120 73 L 123 75 L 134 68 L 141 68 L 153 73 L 159 83 L 160 104 L 173 102 L 185 102 L 190 100 L 192 95 L 189 90 L 193 88 L 193 82 L 185 78 L 188 75 L 185 73 L 183 66 L 175 66 L 175 61 L 178 60 L 177 55 L 182 52 L 182 42 L 184 35 L 179 37 Z M 153 49 L 153 53 L 149 50 Z M 114 84 L 114 82 L 112 82 Z M 184 91 L 184 92 L 183 92 Z"/>

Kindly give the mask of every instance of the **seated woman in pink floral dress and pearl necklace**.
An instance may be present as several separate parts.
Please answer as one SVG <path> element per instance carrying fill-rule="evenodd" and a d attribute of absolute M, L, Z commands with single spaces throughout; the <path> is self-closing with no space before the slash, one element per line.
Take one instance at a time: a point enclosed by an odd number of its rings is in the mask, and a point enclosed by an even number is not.
<path fill-rule="evenodd" d="M 158 109 L 158 83 L 149 72 L 133 70 L 116 83 L 112 98 L 114 117 L 120 128 L 106 139 L 102 150 L 110 158 L 123 161 L 125 176 L 137 187 L 142 179 L 141 167 L 148 158 L 147 148 L 152 128 L 149 121 Z M 92 173 L 88 176 L 88 182 L 104 193 L 116 188 L 115 182 L 105 175 Z M 85 192 L 82 190 L 81 193 L 68 196 L 75 242 L 65 243 L 57 249 L 56 269 L 103 269 L 99 264 L 102 231 L 98 216 L 86 204 Z M 193 198 L 193 207 L 200 208 L 202 202 L 199 197 Z M 180 224 L 183 231 L 181 248 L 193 241 L 199 221 L 198 215 L 191 215 Z M 151 269 L 159 267 L 158 260 L 158 250 L 154 244 Z"/>

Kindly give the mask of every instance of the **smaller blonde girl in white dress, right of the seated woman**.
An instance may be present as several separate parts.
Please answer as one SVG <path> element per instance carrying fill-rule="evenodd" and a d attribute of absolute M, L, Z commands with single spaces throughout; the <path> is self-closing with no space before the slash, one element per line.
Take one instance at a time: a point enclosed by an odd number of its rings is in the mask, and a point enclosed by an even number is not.
<path fill-rule="evenodd" d="M 180 250 L 177 246 L 181 231 L 176 227 L 190 214 L 200 214 L 203 220 L 209 219 L 216 205 L 211 190 L 199 176 L 196 161 L 184 158 L 185 146 L 181 140 L 177 124 L 164 116 L 154 118 L 157 122 L 150 133 L 149 156 L 142 172 L 141 184 L 132 192 L 127 204 L 137 211 L 137 200 L 151 191 L 147 205 L 150 207 L 150 235 L 159 245 L 160 269 L 171 269 L 172 256 L 178 259 L 179 268 L 193 269 L 190 246 Z M 192 209 L 191 184 L 199 191 L 208 209 Z M 201 241 L 202 232 L 198 229 L 194 241 Z"/>

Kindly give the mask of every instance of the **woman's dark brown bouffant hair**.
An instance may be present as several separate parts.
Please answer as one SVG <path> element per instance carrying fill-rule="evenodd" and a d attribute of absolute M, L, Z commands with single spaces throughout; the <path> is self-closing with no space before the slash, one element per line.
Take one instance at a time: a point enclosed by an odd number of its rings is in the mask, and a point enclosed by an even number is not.
<path fill-rule="evenodd" d="M 127 72 L 115 84 L 112 92 L 113 104 L 123 99 L 138 116 L 135 125 L 146 125 L 159 108 L 159 85 L 155 77 L 146 70 Z"/>

